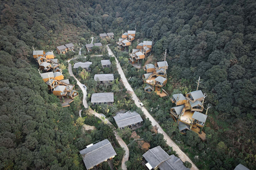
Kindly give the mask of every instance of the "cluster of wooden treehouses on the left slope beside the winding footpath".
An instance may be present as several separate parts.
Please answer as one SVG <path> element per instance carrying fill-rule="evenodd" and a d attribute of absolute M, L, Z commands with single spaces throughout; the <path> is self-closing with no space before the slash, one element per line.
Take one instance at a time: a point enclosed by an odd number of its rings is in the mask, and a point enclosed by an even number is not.
<path fill-rule="evenodd" d="M 64 80 L 59 60 L 54 59 L 53 51 L 45 53 L 43 50 L 34 50 L 33 57 L 39 64 L 39 73 L 48 85 L 48 90 L 61 99 L 62 107 L 70 106 L 69 103 L 74 101 L 78 92 L 74 90 L 75 85 L 69 83 L 69 79 Z"/>

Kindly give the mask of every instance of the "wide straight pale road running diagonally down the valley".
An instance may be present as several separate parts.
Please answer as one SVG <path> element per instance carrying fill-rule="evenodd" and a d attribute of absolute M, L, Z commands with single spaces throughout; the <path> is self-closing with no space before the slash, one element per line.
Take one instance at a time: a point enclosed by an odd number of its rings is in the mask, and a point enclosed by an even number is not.
<path fill-rule="evenodd" d="M 107 45 L 107 49 L 108 49 L 108 54 L 112 55 L 115 57 L 115 55 L 113 54 L 113 52 L 111 51 L 111 49 L 108 47 Z M 125 86 L 125 88 L 127 88 L 127 90 L 132 92 L 132 98 L 135 102 L 135 104 L 137 105 L 137 107 L 141 107 L 139 104 L 139 98 L 136 96 L 136 94 L 134 93 L 133 89 L 131 88 L 130 84 L 128 83 L 125 74 L 117 60 L 117 58 L 115 57 L 115 61 L 116 61 L 116 65 L 117 65 L 117 70 L 121 76 L 121 80 L 123 81 L 123 84 Z M 148 111 L 145 109 L 145 107 L 141 107 L 141 110 L 144 112 L 144 114 L 146 115 L 147 118 L 149 118 L 149 120 L 152 122 L 153 126 L 157 126 L 158 127 L 158 132 L 162 133 L 164 135 L 164 139 L 166 140 L 166 143 L 172 147 L 173 150 L 176 151 L 176 153 L 179 155 L 180 159 L 185 162 L 185 161 L 189 161 L 190 163 L 192 163 L 192 170 L 199 170 L 195 164 L 193 164 L 193 162 L 189 159 L 189 157 L 180 150 L 179 146 L 176 145 L 176 143 L 174 143 L 171 138 L 164 132 L 164 130 L 160 127 L 160 125 L 156 122 L 156 120 L 148 113 Z"/>

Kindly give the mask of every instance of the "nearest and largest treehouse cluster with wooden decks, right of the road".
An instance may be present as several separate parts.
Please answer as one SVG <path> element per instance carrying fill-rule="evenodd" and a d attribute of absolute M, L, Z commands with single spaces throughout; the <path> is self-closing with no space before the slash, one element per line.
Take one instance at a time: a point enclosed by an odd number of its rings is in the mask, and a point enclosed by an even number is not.
<path fill-rule="evenodd" d="M 178 128 L 181 134 L 186 134 L 187 130 L 193 130 L 201 140 L 205 141 L 205 132 L 199 133 L 200 128 L 203 128 L 207 119 L 203 112 L 204 106 L 201 101 L 204 100 L 204 95 L 201 90 L 189 92 L 186 97 L 183 94 L 174 94 L 171 98 L 172 103 L 176 106 L 170 109 L 170 115 L 174 121 L 178 122 Z"/>

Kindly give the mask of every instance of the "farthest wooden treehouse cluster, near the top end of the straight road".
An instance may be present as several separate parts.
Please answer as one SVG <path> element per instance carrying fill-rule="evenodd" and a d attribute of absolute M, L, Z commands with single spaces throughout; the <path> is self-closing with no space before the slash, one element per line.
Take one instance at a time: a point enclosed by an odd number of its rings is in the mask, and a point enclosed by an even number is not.
<path fill-rule="evenodd" d="M 121 38 L 119 38 L 119 41 L 117 43 L 117 48 L 120 50 L 124 50 L 126 47 L 131 45 L 131 42 L 135 40 L 135 33 L 134 30 L 129 30 L 122 34 Z"/>

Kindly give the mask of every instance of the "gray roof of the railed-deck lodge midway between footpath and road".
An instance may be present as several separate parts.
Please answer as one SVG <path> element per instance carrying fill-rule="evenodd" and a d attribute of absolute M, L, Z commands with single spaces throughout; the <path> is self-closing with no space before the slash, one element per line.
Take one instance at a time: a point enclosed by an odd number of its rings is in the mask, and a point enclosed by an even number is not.
<path fill-rule="evenodd" d="M 118 128 L 126 127 L 143 121 L 139 113 L 137 113 L 136 111 L 118 113 L 113 118 L 115 119 Z"/>

